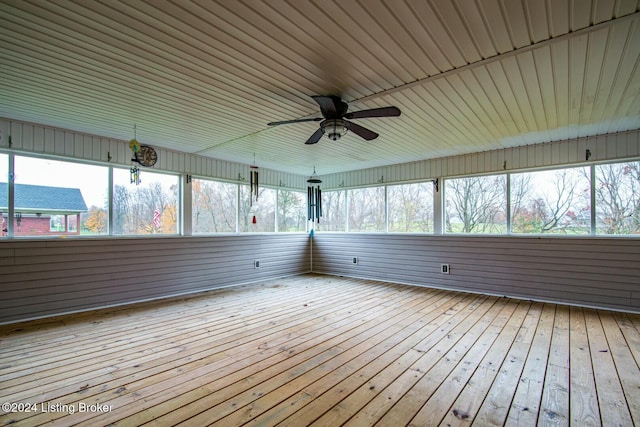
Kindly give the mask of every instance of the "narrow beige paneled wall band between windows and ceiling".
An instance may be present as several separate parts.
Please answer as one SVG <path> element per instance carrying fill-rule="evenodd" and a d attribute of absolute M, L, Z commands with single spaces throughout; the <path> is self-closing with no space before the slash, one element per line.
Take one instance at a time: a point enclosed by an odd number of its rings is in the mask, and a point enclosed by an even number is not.
<path fill-rule="evenodd" d="M 126 167 L 131 164 L 131 150 L 126 141 L 6 119 L 0 119 L 0 148 Z M 426 159 L 322 175 L 320 178 L 323 180 L 322 188 L 331 190 L 440 177 L 560 167 L 585 163 L 587 150 L 590 152 L 589 162 L 639 158 L 640 130 Z M 151 169 L 227 181 L 247 182 L 249 179 L 249 165 L 161 148 L 157 151 L 158 163 Z M 425 156 L 427 155 L 428 153 L 425 153 Z M 260 169 L 260 183 L 272 187 L 305 189 L 307 178 L 306 175 Z"/>

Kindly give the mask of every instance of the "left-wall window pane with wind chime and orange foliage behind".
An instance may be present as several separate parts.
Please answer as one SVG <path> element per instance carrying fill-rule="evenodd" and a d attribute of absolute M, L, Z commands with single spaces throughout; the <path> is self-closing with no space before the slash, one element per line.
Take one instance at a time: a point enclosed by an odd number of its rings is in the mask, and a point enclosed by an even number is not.
<path fill-rule="evenodd" d="M 136 185 L 129 169 L 114 168 L 113 234 L 176 234 L 178 179 L 143 169 Z"/>

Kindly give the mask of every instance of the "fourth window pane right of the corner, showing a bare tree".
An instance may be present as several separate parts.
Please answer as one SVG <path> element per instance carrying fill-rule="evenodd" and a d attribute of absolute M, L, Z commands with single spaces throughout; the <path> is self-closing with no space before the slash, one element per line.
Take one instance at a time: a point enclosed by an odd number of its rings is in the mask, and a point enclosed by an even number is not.
<path fill-rule="evenodd" d="M 447 233 L 506 233 L 506 175 L 445 180 Z"/>

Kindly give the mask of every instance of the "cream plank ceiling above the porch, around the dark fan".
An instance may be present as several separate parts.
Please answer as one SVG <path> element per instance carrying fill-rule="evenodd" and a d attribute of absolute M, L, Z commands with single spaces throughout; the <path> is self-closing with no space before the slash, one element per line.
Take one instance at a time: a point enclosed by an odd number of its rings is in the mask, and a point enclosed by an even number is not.
<path fill-rule="evenodd" d="M 0 117 L 320 175 L 640 128 L 640 2 L 0 2 Z M 366 142 L 304 141 L 311 95 Z"/>

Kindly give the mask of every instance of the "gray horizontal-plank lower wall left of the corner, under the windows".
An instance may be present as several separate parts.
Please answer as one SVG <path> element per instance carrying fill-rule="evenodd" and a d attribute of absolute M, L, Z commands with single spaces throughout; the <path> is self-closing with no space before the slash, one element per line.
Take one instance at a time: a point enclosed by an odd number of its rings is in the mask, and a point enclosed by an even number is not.
<path fill-rule="evenodd" d="M 0 323 L 309 270 L 306 233 L 9 240 L 0 246 Z"/>

